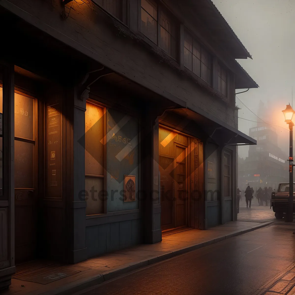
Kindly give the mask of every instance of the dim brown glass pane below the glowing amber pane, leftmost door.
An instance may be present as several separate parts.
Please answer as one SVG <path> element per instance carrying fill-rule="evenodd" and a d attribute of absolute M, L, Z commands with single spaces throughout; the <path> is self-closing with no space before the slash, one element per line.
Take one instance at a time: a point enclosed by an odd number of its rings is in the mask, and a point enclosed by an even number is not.
<path fill-rule="evenodd" d="M 14 140 L 14 187 L 34 189 L 34 144 Z"/>

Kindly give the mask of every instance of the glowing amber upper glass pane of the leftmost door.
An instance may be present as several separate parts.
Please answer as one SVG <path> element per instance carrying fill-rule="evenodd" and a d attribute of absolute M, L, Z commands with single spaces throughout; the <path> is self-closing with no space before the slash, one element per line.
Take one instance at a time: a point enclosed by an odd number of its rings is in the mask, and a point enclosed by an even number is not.
<path fill-rule="evenodd" d="M 14 93 L 14 136 L 34 139 L 35 100 Z"/>

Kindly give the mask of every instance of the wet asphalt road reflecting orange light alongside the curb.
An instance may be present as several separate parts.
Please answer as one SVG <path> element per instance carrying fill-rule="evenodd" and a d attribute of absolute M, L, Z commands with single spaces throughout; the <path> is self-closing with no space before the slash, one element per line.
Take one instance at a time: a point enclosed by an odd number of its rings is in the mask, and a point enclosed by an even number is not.
<path fill-rule="evenodd" d="M 294 231 L 280 221 L 77 294 L 252 294 L 295 262 Z"/>

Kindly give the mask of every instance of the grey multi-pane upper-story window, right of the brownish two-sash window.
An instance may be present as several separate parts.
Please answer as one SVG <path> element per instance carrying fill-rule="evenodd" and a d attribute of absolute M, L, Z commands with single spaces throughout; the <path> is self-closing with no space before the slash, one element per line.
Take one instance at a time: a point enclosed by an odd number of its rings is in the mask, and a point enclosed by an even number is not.
<path fill-rule="evenodd" d="M 187 32 L 184 34 L 184 66 L 212 85 L 211 56 Z"/>

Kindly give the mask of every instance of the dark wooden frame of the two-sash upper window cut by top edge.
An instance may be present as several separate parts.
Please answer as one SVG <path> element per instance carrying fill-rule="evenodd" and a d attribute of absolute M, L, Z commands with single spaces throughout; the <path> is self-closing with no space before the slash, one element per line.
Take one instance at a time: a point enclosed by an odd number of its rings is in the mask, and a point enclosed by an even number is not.
<path fill-rule="evenodd" d="M 157 5 L 157 42 L 153 42 L 153 40 L 150 40 L 149 37 L 147 37 L 141 30 L 141 0 L 137 0 L 137 6 L 138 6 L 138 12 L 137 12 L 137 30 L 140 33 L 140 35 L 143 37 L 143 40 L 145 42 L 147 42 L 148 44 L 150 44 L 152 47 L 154 47 L 157 50 L 161 50 L 163 53 L 165 53 L 166 55 L 168 55 L 171 59 L 175 60 L 177 63 L 180 60 L 180 50 L 179 50 L 179 40 L 180 40 L 180 23 L 177 20 L 177 18 L 167 9 L 165 8 L 165 6 L 157 0 L 148 0 L 150 2 L 153 2 Z M 160 46 L 160 29 L 161 29 L 161 24 L 160 24 L 160 16 L 161 16 L 161 12 L 167 17 L 167 19 L 170 20 L 171 24 L 174 25 L 174 30 L 175 30 L 175 36 L 172 35 L 172 33 L 169 33 L 171 36 L 174 37 L 175 39 L 175 57 L 173 57 L 170 53 L 168 53 L 167 51 L 165 51 L 165 49 L 163 49 Z M 165 28 L 164 28 L 165 29 Z M 167 31 L 167 30 L 166 30 Z M 170 42 L 171 43 L 171 42 Z M 170 44 L 171 46 L 171 44 Z"/>

